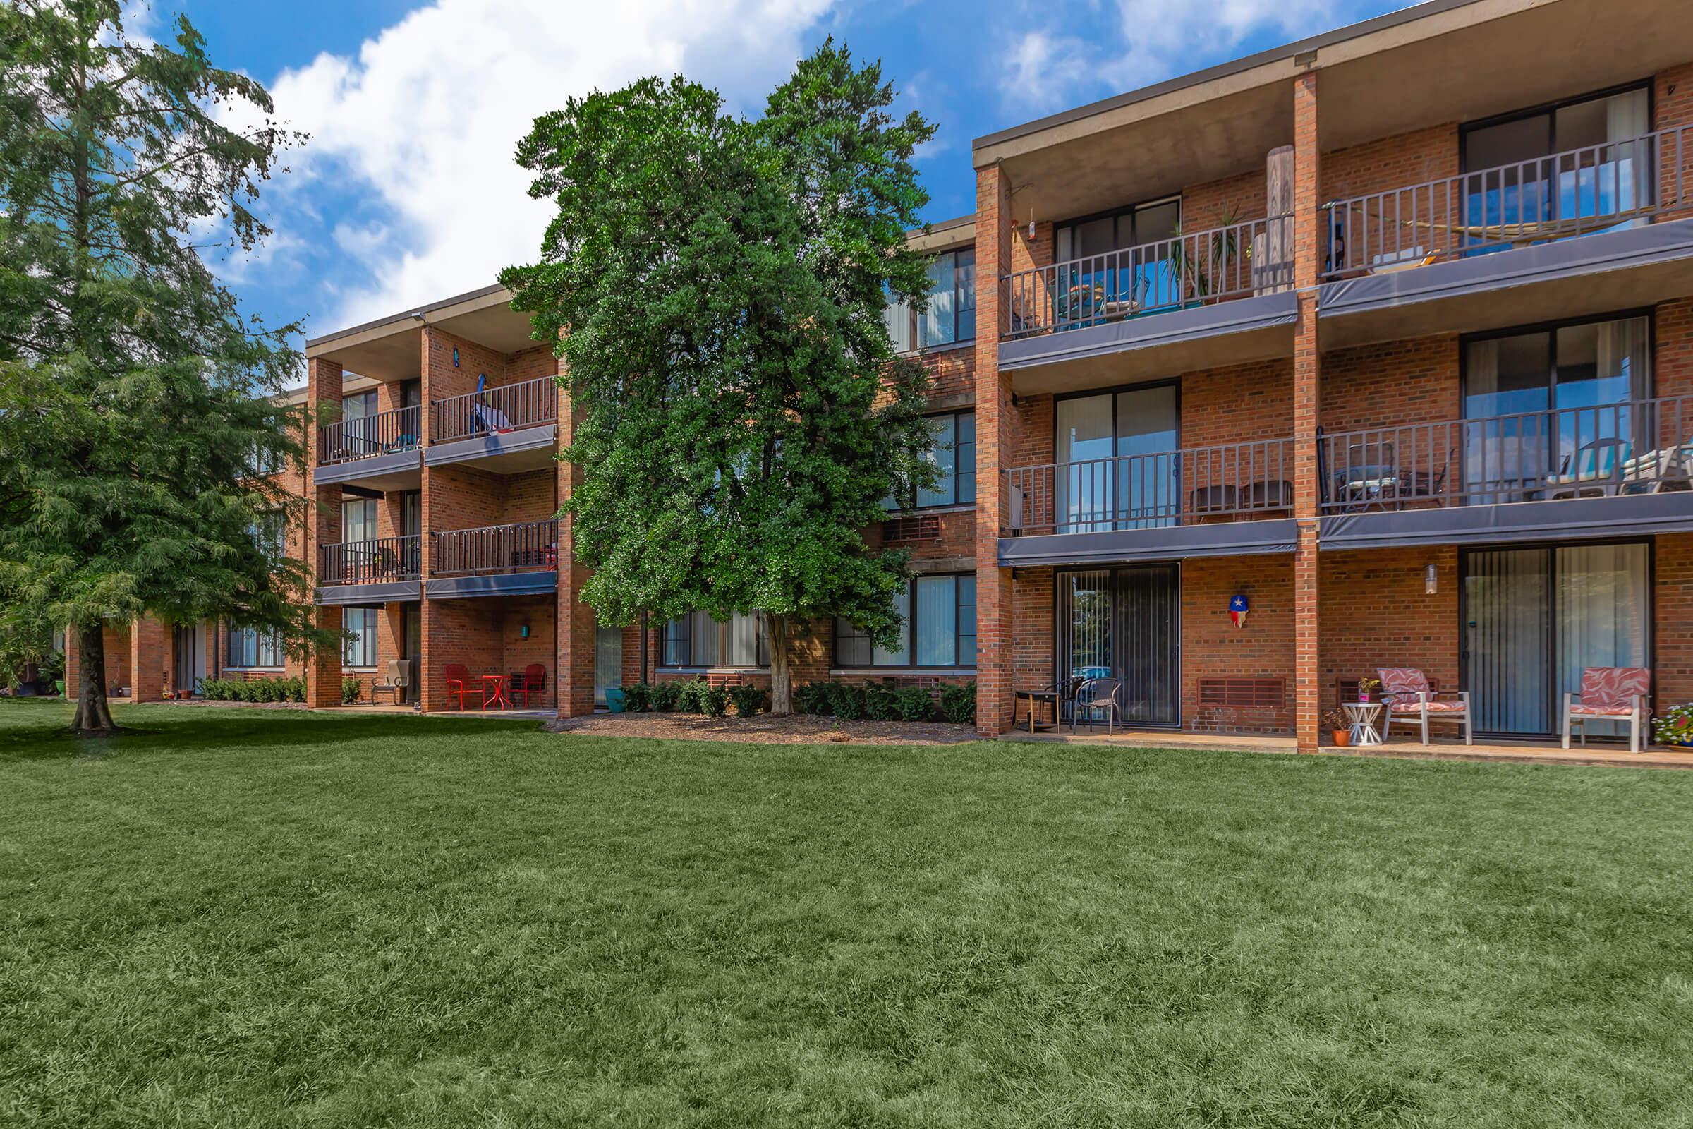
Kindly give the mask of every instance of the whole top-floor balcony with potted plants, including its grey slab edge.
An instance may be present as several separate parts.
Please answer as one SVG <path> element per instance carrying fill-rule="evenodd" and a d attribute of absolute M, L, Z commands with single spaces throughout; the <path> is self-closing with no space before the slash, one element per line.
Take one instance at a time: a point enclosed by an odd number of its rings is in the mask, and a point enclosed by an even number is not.
<path fill-rule="evenodd" d="M 1063 366 L 1014 377 L 1019 393 L 1063 391 L 1109 376 L 1209 367 L 1278 355 L 1299 305 L 1293 217 L 1178 234 L 1138 247 L 1017 271 L 1004 278 L 1004 371 Z M 1128 367 L 1126 367 L 1128 366 Z"/>

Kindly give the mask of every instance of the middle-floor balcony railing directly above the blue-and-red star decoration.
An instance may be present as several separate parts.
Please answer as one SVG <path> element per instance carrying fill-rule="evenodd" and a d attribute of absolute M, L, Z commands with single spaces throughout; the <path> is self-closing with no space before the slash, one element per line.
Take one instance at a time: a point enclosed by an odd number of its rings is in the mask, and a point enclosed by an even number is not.
<path fill-rule="evenodd" d="M 1004 474 L 1012 535 L 1261 516 L 1293 506 L 1293 440 L 1053 462 Z"/>

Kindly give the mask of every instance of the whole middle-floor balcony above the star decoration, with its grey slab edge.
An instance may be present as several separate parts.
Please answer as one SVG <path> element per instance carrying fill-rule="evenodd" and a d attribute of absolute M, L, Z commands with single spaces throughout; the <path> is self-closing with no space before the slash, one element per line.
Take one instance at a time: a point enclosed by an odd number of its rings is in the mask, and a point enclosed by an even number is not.
<path fill-rule="evenodd" d="M 1002 565 L 1292 552 L 1293 440 L 1004 472 Z"/>

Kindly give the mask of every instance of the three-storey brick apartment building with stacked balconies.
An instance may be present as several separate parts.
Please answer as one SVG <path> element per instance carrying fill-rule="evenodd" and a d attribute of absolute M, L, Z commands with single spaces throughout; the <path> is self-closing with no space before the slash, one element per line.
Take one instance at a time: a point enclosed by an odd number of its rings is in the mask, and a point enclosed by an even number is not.
<path fill-rule="evenodd" d="M 889 315 L 951 440 L 874 535 L 914 552 L 906 643 L 816 625 L 801 680 L 973 677 L 999 733 L 1014 691 L 1109 672 L 1129 726 L 1300 748 L 1378 667 L 1527 740 L 1588 665 L 1693 699 L 1678 5 L 1434 0 L 982 137 L 973 166 L 977 212 L 914 235 L 929 311 Z M 569 403 L 503 291 L 308 357 L 344 418 L 303 550 L 323 621 L 374 640 L 310 664 L 315 706 L 393 657 L 432 711 L 447 662 L 540 662 L 564 714 L 643 675 L 765 677 L 755 620 L 643 648 L 574 599 Z M 115 642 L 163 689 L 183 635 Z"/>

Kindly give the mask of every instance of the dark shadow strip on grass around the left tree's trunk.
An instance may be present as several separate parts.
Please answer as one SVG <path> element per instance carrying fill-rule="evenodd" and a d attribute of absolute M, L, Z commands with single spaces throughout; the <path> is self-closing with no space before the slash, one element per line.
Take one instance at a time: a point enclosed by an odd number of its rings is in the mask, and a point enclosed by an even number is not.
<path fill-rule="evenodd" d="M 394 738 L 535 733 L 540 721 L 476 721 L 405 714 L 323 714 L 305 709 L 218 709 L 117 706 L 115 736 L 76 736 L 73 709 L 63 702 L 0 702 L 0 762 L 56 757 L 103 757 L 130 752 L 208 752 L 218 748 L 288 748 L 349 745 Z"/>

